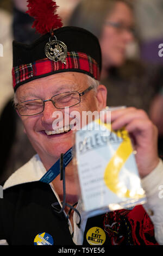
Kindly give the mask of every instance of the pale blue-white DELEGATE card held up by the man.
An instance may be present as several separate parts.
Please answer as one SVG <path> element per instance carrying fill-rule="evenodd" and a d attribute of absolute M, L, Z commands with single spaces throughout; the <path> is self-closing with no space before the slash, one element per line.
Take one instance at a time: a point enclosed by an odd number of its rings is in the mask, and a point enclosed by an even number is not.
<path fill-rule="evenodd" d="M 76 132 L 76 157 L 84 211 L 109 207 L 110 204 L 125 205 L 125 202 L 132 200 L 138 202 L 145 196 L 133 153 L 128 156 L 120 171 L 116 169 L 118 161 L 122 161 L 116 156 L 122 143 L 125 143 L 123 138 L 113 132 L 108 132 L 108 136 L 106 133 L 103 136 L 96 129 Z M 108 170 L 112 157 L 115 157 L 115 167 Z M 109 183 L 105 180 L 107 172 Z M 118 172 L 117 178 L 115 172 Z M 117 191 L 118 186 L 122 188 L 122 194 Z"/>

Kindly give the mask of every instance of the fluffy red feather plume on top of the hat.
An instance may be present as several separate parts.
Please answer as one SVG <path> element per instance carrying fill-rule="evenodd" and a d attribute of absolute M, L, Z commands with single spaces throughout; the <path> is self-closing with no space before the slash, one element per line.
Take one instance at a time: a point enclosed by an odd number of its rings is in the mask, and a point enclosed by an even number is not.
<path fill-rule="evenodd" d="M 33 28 L 40 34 L 46 34 L 62 27 L 61 18 L 56 14 L 58 5 L 53 0 L 28 0 L 27 13 L 34 17 Z"/>

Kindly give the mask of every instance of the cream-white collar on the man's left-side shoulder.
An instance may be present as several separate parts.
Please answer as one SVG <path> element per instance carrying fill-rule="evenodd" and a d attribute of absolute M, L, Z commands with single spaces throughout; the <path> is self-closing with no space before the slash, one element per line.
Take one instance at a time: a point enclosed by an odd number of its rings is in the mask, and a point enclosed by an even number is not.
<path fill-rule="evenodd" d="M 11 174 L 8 180 L 5 181 L 3 189 L 5 190 L 8 187 L 27 182 L 39 181 L 45 173 L 46 169 L 39 155 L 36 154 L 26 164 Z"/>

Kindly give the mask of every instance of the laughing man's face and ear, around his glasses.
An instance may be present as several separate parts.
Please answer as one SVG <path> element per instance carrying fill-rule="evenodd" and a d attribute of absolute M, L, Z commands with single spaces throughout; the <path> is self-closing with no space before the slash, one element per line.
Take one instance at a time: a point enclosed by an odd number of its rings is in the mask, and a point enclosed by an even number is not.
<path fill-rule="evenodd" d="M 47 100 L 58 93 L 71 91 L 81 93 L 91 85 L 85 74 L 62 72 L 23 84 L 17 89 L 16 98 L 18 103 L 33 99 Z M 69 113 L 78 111 L 82 117 L 82 111 L 100 111 L 105 107 L 105 98 L 106 90 L 103 86 L 99 86 L 97 93 L 90 90 L 83 95 L 78 105 L 70 107 Z M 58 160 L 61 153 L 65 153 L 74 144 L 73 131 L 51 134 L 51 131 L 54 131 L 55 111 L 62 112 L 64 121 L 64 109 L 55 108 L 52 101 L 45 102 L 44 111 L 40 114 L 21 116 L 27 136 L 47 169 Z"/>

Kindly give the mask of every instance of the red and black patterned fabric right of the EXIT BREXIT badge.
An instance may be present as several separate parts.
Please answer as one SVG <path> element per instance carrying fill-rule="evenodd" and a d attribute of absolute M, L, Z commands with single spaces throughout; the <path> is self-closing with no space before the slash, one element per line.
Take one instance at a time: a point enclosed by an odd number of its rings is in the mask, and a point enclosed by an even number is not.
<path fill-rule="evenodd" d="M 154 237 L 153 223 L 142 205 L 133 210 L 108 212 L 103 225 L 111 245 L 159 245 Z"/>

